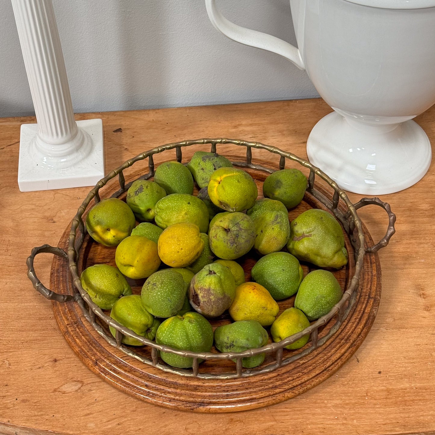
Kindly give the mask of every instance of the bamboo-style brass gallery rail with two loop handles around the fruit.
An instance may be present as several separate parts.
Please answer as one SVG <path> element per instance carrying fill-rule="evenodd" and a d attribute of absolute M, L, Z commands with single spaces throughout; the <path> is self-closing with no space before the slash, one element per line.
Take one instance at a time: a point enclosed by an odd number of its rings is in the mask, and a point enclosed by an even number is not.
<path fill-rule="evenodd" d="M 210 144 L 211 152 L 216 152 L 216 147 L 218 144 L 234 144 L 240 147 L 246 147 L 246 160 L 241 162 L 232 162 L 234 166 L 245 167 L 250 169 L 255 169 L 259 171 L 264 171 L 266 173 L 274 172 L 273 169 L 263 167 L 261 165 L 256 165 L 252 163 L 252 148 L 260 148 L 267 150 L 273 154 L 277 154 L 280 156 L 279 158 L 279 168 L 284 169 L 286 159 L 298 162 L 302 166 L 309 169 L 310 174 L 308 177 L 308 187 L 307 192 L 311 194 L 315 199 L 321 202 L 321 204 L 325 205 L 341 222 L 344 230 L 349 236 L 350 242 L 355 249 L 355 273 L 351 277 L 349 281 L 348 287 L 345 289 L 343 293 L 343 297 L 341 300 L 331 309 L 331 311 L 319 318 L 308 328 L 305 328 L 303 331 L 298 332 L 297 334 L 291 335 L 284 340 L 273 343 L 270 345 L 263 346 L 261 348 L 249 349 L 243 352 L 227 352 L 227 353 L 213 353 L 213 352 L 193 352 L 193 351 L 181 351 L 178 349 L 170 348 L 164 345 L 158 345 L 154 341 L 148 340 L 140 335 L 135 334 L 128 328 L 120 325 L 108 315 L 104 314 L 104 312 L 98 308 L 97 305 L 92 302 L 89 295 L 81 286 L 80 277 L 78 275 L 77 263 L 80 255 L 80 249 L 82 248 L 84 242 L 84 236 L 86 234 L 83 214 L 90 204 L 90 201 L 94 199 L 94 202 L 97 203 L 100 201 L 100 189 L 104 187 L 108 181 L 118 176 L 119 190 L 115 192 L 112 197 L 118 197 L 123 194 L 127 189 L 131 186 L 131 183 L 126 184 L 123 171 L 128 167 L 131 167 L 137 161 L 142 161 L 144 159 L 148 159 L 148 173 L 141 176 L 141 179 L 147 180 L 154 176 L 154 160 L 153 156 L 157 153 L 162 153 L 167 150 L 172 150 L 175 148 L 176 150 L 176 158 L 177 161 L 181 162 L 182 159 L 182 148 L 189 147 L 191 145 L 197 144 Z M 326 181 L 334 190 L 334 194 L 331 199 L 326 197 L 324 194 L 321 194 L 319 191 L 315 189 L 315 176 L 320 177 L 324 181 Z M 339 200 L 342 200 L 346 207 L 346 212 L 343 213 L 340 211 L 338 207 Z M 380 207 L 384 208 L 388 213 L 389 217 L 389 225 L 385 237 L 382 238 L 374 246 L 369 248 L 364 248 L 364 233 L 361 225 L 361 221 L 358 218 L 357 210 L 360 207 L 364 207 L 368 204 L 376 204 Z M 97 331 L 99 335 L 101 335 L 110 345 L 124 352 L 126 355 L 130 355 L 133 358 L 136 358 L 139 361 L 142 361 L 144 364 L 151 365 L 153 367 L 157 367 L 163 371 L 175 373 L 182 376 L 190 376 L 190 377 L 198 377 L 204 379 L 231 379 L 231 378 L 240 378 L 240 377 L 248 377 L 253 375 L 259 375 L 262 373 L 267 373 L 273 371 L 274 369 L 281 367 L 283 365 L 287 365 L 292 361 L 299 359 L 305 355 L 308 355 L 313 350 L 323 345 L 335 332 L 338 330 L 344 319 L 348 316 L 351 311 L 352 306 L 355 303 L 356 294 L 358 291 L 358 285 L 360 281 L 360 273 L 361 267 L 363 264 L 363 258 L 366 253 L 376 252 L 380 248 L 385 247 L 388 244 L 391 236 L 394 234 L 394 223 L 395 223 L 395 215 L 391 212 L 391 208 L 389 204 L 381 202 L 378 198 L 363 198 L 357 204 L 353 204 L 345 191 L 341 190 L 335 181 L 331 180 L 326 174 L 320 171 L 317 167 L 312 166 L 308 161 L 303 160 L 294 154 L 282 151 L 278 148 L 271 147 L 269 145 L 261 144 L 258 142 L 246 142 L 241 140 L 232 140 L 232 139 L 199 139 L 192 141 L 183 141 L 172 144 L 162 145 L 156 148 L 153 148 L 149 151 L 141 153 L 136 157 L 126 161 L 123 165 L 111 171 L 106 177 L 101 179 L 96 186 L 89 192 L 86 199 L 83 201 L 81 206 L 79 207 L 77 214 L 74 216 L 71 231 L 69 235 L 69 245 L 67 253 L 60 249 L 54 248 L 49 245 L 43 245 L 39 248 L 34 248 L 30 257 L 27 259 L 28 265 L 28 277 L 33 283 L 33 286 L 40 291 L 48 299 L 54 299 L 59 302 L 65 302 L 74 300 L 80 305 L 81 310 L 84 313 L 87 321 L 90 322 L 92 327 Z M 33 259 L 40 252 L 51 252 L 53 254 L 68 258 L 69 262 L 69 270 L 73 277 L 74 286 L 77 288 L 78 292 L 75 292 L 74 295 L 66 295 L 66 294 L 57 294 L 54 291 L 49 290 L 44 287 L 43 284 L 37 278 L 34 268 L 33 268 Z M 319 328 L 326 325 L 335 315 L 336 321 L 334 325 L 331 326 L 330 330 L 326 335 L 319 338 L 318 332 Z M 106 325 L 111 326 L 116 329 L 116 336 L 113 338 L 111 335 L 107 333 L 107 331 L 100 325 L 98 319 L 104 322 Z M 295 341 L 299 340 L 303 335 L 311 334 L 311 345 L 308 348 L 305 348 L 302 351 L 297 353 L 292 353 L 286 358 L 283 357 L 283 348 Z M 137 354 L 131 348 L 127 348 L 121 344 L 122 335 L 126 335 L 128 337 L 136 338 L 141 341 L 144 345 L 151 347 L 151 359 L 146 358 L 143 355 Z M 193 358 L 193 368 L 189 369 L 178 369 L 171 367 L 169 365 L 163 364 L 159 362 L 158 352 L 165 351 L 174 353 L 177 355 L 181 355 L 184 357 Z M 275 358 L 272 362 L 268 364 L 263 364 L 259 368 L 255 369 L 243 369 L 242 368 L 242 358 L 250 357 L 253 355 L 258 355 L 260 353 L 274 353 Z M 204 359 L 214 359 L 214 360 L 228 360 L 228 359 L 236 359 L 236 371 L 231 371 L 228 373 L 200 373 L 198 371 L 198 360 Z"/>

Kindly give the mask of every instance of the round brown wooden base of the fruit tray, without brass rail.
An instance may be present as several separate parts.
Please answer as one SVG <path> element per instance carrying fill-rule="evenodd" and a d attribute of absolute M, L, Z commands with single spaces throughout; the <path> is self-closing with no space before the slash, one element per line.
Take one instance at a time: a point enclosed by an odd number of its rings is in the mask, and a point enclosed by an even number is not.
<path fill-rule="evenodd" d="M 247 170 L 261 185 L 267 176 L 262 171 Z M 136 174 L 137 178 L 141 174 Z M 321 185 L 315 188 L 326 197 L 331 197 L 331 191 Z M 107 192 L 107 197 L 113 194 Z M 259 192 L 261 192 L 259 188 Z M 124 194 L 125 197 L 125 194 Z M 121 198 L 123 198 L 121 196 Z M 292 220 L 301 212 L 309 208 L 321 208 L 325 206 L 316 200 L 311 194 L 306 193 L 302 203 L 289 212 Z M 344 205 L 339 205 L 341 211 L 345 211 Z M 363 224 L 365 234 L 365 246 L 372 246 L 373 240 Z M 60 238 L 58 246 L 66 249 L 70 227 Z M 346 288 L 348 280 L 355 271 L 354 248 L 348 235 L 345 233 L 345 244 L 349 253 L 349 263 L 334 274 Z M 107 248 L 94 243 L 87 235 L 80 250 L 78 261 L 79 274 L 81 271 L 95 263 L 114 265 L 115 248 Z M 249 254 L 241 259 L 247 281 L 250 279 L 250 271 L 255 263 L 255 258 Z M 311 265 L 302 264 L 305 274 L 311 270 Z M 140 293 L 144 280 L 130 280 L 134 293 Z M 61 294 L 73 294 L 73 283 L 68 269 L 68 261 L 58 256 L 54 257 L 50 288 Z M 269 373 L 255 375 L 247 378 L 236 379 L 200 379 L 187 378 L 172 373 L 161 371 L 143 364 L 135 358 L 125 355 L 122 351 L 110 346 L 86 320 L 78 304 L 74 301 L 59 303 L 53 301 L 54 315 L 60 331 L 67 342 L 77 353 L 84 364 L 94 373 L 108 381 L 120 390 L 140 398 L 146 402 L 168 408 L 177 408 L 196 412 L 231 412 L 252 408 L 259 408 L 274 403 L 282 402 L 294 397 L 309 388 L 318 385 L 331 376 L 341 367 L 358 349 L 375 320 L 381 296 L 381 268 L 376 253 L 365 254 L 364 264 L 361 270 L 360 285 L 354 306 L 348 317 L 343 321 L 338 331 L 321 347 L 310 354 L 299 358 L 287 365 L 275 369 Z M 280 313 L 293 305 L 294 298 L 279 302 Z M 217 326 L 228 322 L 228 317 L 212 321 Z M 333 323 L 334 318 L 329 323 Z M 324 333 L 330 328 L 325 325 Z M 319 331 L 319 337 L 321 332 Z M 308 342 L 307 346 L 310 345 Z M 151 351 L 135 348 L 135 351 L 144 355 L 151 355 Z M 291 352 L 284 349 L 284 356 Z M 271 355 L 267 355 L 265 362 Z M 231 366 L 232 364 L 232 366 Z M 224 372 L 234 370 L 232 361 L 205 361 L 200 365 L 201 371 Z"/>

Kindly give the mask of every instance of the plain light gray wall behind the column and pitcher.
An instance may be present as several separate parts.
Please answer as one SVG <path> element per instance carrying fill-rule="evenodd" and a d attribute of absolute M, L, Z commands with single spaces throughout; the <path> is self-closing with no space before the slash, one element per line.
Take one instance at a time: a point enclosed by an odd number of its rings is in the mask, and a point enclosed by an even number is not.
<path fill-rule="evenodd" d="M 53 0 L 75 112 L 318 96 L 290 61 L 224 37 L 204 0 Z M 288 0 L 218 0 L 245 27 L 296 43 Z M 0 117 L 34 114 L 12 6 L 0 14 Z"/>

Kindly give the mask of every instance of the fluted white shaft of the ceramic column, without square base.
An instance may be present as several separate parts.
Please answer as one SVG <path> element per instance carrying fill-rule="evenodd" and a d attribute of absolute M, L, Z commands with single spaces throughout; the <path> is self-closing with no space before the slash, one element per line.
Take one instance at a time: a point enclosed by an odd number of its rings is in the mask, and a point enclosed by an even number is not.
<path fill-rule="evenodd" d="M 47 144 L 47 151 L 57 154 L 55 145 L 71 141 L 77 135 L 77 123 L 53 3 L 11 1 L 37 117 L 38 144 Z"/>

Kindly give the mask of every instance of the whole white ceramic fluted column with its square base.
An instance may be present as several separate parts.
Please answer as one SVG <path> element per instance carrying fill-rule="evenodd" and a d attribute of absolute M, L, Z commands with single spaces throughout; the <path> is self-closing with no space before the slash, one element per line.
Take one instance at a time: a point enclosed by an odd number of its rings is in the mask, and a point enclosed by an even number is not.
<path fill-rule="evenodd" d="M 104 177 L 100 119 L 74 120 L 51 0 L 12 0 L 37 124 L 20 134 L 20 191 L 92 186 Z"/>

